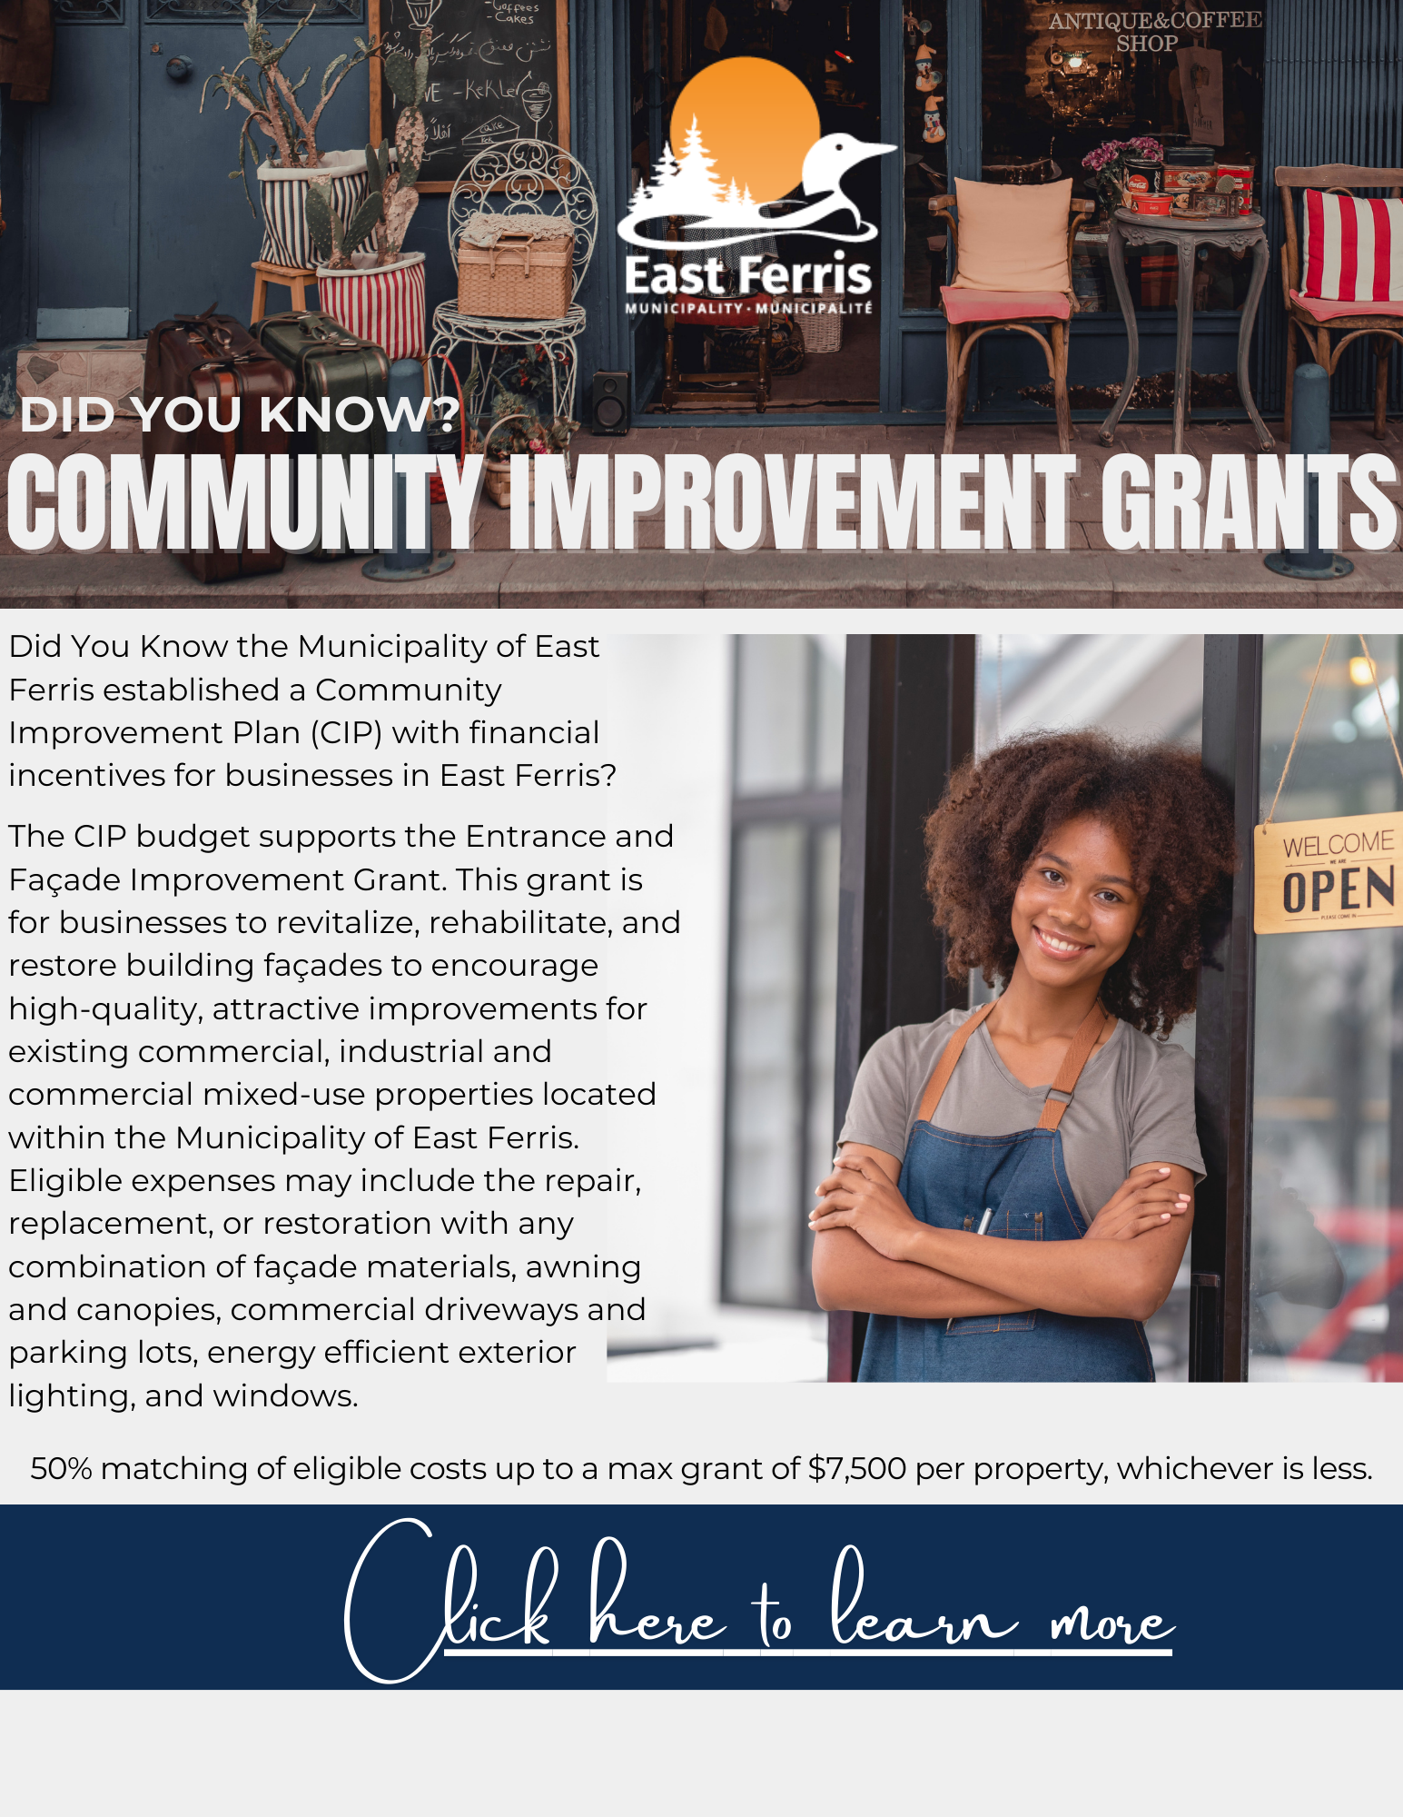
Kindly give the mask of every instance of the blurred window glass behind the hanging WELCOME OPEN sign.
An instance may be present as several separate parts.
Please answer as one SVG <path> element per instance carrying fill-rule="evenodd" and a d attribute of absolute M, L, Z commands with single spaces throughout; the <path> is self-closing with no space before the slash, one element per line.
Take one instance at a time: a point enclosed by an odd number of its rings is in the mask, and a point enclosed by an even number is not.
<path fill-rule="evenodd" d="M 1276 819 L 1396 812 L 1399 641 L 1336 638 Z M 1261 812 L 1319 638 L 1267 638 Z M 1256 943 L 1250 1381 L 1390 1379 L 1403 1368 L 1403 932 Z"/>

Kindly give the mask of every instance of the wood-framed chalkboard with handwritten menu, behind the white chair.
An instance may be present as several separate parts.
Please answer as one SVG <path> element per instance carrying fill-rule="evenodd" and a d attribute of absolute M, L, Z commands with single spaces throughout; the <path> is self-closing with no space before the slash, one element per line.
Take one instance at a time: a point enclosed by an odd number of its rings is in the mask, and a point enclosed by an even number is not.
<path fill-rule="evenodd" d="M 567 0 L 371 0 L 371 33 L 416 56 L 429 25 L 420 191 L 453 189 L 462 167 L 505 138 L 571 144 Z M 396 105 L 371 64 L 371 144 L 394 136 Z"/>

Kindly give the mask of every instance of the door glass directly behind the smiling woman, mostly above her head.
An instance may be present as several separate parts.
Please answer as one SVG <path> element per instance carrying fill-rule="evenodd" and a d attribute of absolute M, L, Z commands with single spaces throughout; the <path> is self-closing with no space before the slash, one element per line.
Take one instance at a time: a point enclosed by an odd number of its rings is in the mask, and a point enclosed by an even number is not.
<path fill-rule="evenodd" d="M 1203 638 L 980 638 L 976 750 L 1020 732 L 1094 727 L 1119 738 L 1203 741 Z M 970 979 L 970 1003 L 994 992 Z M 1194 1052 L 1194 1018 L 1172 1041 Z M 1096 1206 L 1087 1206 L 1094 1212 Z M 1189 1379 L 1189 1257 L 1145 1326 L 1156 1381 Z"/>

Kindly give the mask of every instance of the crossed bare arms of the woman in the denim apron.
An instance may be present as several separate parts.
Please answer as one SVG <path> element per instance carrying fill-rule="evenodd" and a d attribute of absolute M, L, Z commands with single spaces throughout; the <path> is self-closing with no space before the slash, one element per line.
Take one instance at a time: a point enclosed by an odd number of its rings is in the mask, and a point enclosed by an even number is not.
<path fill-rule="evenodd" d="M 1136 1167 L 1080 1243 L 936 1230 L 912 1216 L 901 1163 L 845 1143 L 809 1219 L 814 1294 L 825 1310 L 914 1319 L 1041 1306 L 1087 1319 L 1149 1319 L 1165 1301 L 1194 1223 L 1183 1167 Z"/>

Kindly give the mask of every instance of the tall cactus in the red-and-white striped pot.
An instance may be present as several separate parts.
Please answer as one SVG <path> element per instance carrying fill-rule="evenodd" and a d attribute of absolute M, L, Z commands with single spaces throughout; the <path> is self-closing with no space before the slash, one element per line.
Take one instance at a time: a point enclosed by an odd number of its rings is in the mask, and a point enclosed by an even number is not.
<path fill-rule="evenodd" d="M 336 207 L 331 180 L 314 180 L 307 193 L 322 307 L 391 360 L 422 360 L 425 352 L 423 253 L 405 253 L 403 238 L 420 202 L 414 182 L 423 162 L 431 38 L 425 25 L 413 60 L 385 55 L 385 82 L 400 104 L 394 147 L 387 140 L 365 147 L 367 189 L 354 209 Z M 356 251 L 367 240 L 373 251 Z"/>

